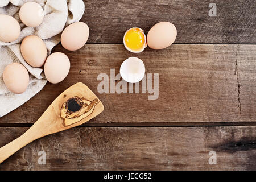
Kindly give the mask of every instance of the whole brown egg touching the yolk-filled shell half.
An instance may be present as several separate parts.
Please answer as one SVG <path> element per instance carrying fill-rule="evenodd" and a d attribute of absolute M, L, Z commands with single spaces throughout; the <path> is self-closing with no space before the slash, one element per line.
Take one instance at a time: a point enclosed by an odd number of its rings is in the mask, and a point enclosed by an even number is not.
<path fill-rule="evenodd" d="M 170 22 L 156 23 L 147 34 L 147 45 L 152 49 L 164 49 L 174 43 L 177 30 Z"/>

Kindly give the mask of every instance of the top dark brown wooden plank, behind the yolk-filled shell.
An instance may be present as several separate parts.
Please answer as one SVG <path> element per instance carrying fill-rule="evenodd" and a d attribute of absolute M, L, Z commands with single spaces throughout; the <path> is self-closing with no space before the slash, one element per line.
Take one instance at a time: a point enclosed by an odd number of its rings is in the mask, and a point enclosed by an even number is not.
<path fill-rule="evenodd" d="M 254 0 L 110 0 L 84 1 L 82 22 L 88 24 L 88 43 L 122 43 L 131 27 L 146 34 L 154 24 L 168 21 L 177 28 L 175 43 L 256 43 Z M 210 17 L 209 3 L 216 3 L 217 16 Z"/>

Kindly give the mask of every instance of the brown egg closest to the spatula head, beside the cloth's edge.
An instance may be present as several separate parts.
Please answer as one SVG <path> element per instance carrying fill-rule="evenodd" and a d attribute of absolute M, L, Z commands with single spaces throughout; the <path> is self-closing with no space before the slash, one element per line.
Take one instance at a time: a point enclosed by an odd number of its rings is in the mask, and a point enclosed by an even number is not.
<path fill-rule="evenodd" d="M 44 75 L 49 82 L 57 84 L 67 77 L 70 68 L 68 56 L 61 52 L 55 52 L 48 56 L 44 64 Z"/>

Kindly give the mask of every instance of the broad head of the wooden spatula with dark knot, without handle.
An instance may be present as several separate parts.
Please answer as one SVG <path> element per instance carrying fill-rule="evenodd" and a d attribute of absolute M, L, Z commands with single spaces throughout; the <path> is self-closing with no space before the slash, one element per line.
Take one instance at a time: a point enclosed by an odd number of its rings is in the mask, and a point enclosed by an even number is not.
<path fill-rule="evenodd" d="M 61 93 L 39 118 L 39 123 L 48 125 L 47 134 L 56 133 L 96 117 L 104 110 L 98 97 L 81 82 Z"/>

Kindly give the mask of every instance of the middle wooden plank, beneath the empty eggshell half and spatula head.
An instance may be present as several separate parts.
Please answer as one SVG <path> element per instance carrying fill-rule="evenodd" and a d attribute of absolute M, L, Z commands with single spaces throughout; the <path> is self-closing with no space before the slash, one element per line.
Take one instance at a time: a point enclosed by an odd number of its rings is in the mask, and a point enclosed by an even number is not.
<path fill-rule="evenodd" d="M 100 98 L 105 111 L 90 123 L 183 123 L 256 121 L 256 46 L 172 45 L 142 53 L 119 44 L 87 44 L 66 52 L 71 71 L 60 84 L 49 84 L 34 98 L 0 118 L 1 123 L 34 123 L 69 86 L 84 82 Z M 159 73 L 159 97 L 142 94 L 100 94 L 97 76 L 110 69 L 119 73 L 123 60 L 137 56 L 146 73 Z M 117 83 L 118 81 L 116 81 Z"/>

